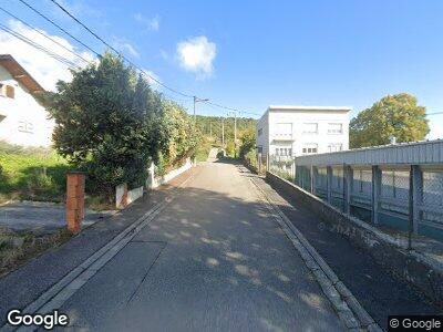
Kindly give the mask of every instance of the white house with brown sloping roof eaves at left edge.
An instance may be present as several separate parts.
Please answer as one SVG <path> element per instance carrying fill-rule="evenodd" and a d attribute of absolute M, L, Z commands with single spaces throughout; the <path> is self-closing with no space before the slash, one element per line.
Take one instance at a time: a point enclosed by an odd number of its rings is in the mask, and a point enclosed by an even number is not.
<path fill-rule="evenodd" d="M 51 145 L 54 122 L 38 96 L 44 89 L 9 54 L 0 55 L 0 141 Z"/>

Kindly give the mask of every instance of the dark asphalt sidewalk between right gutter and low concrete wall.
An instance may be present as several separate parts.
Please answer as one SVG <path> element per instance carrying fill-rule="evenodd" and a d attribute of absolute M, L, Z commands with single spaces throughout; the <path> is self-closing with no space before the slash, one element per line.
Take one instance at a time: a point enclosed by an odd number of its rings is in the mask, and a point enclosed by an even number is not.
<path fill-rule="evenodd" d="M 367 253 L 353 247 L 331 226 L 322 222 L 286 194 L 277 193 L 262 178 L 256 180 L 301 231 L 312 247 L 356 295 L 360 304 L 387 329 L 390 314 L 436 314 L 442 308 L 427 302 L 406 283 L 392 278 Z"/>

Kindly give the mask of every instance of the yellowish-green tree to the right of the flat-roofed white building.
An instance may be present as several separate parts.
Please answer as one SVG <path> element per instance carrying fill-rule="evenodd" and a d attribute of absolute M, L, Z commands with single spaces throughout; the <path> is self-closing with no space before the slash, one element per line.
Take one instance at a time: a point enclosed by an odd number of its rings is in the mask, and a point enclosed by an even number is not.
<path fill-rule="evenodd" d="M 429 133 L 426 108 L 414 96 L 388 95 L 359 113 L 350 123 L 352 148 L 383 145 L 390 137 L 398 142 L 422 141 Z"/>

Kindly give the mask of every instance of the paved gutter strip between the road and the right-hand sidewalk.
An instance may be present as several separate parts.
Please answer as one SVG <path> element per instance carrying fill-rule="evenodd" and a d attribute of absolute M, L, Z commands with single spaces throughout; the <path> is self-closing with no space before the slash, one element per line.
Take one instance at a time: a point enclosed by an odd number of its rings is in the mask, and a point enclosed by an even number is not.
<path fill-rule="evenodd" d="M 249 180 L 254 185 L 253 187 L 257 189 L 257 196 L 261 200 L 261 204 L 266 206 L 270 216 L 276 219 L 285 235 L 300 253 L 306 266 L 315 276 L 321 290 L 331 302 L 332 308 L 344 325 L 349 330 L 382 331 L 351 291 L 340 281 L 329 264 L 281 211 L 278 205 L 272 201 L 253 178 L 249 178 Z"/>

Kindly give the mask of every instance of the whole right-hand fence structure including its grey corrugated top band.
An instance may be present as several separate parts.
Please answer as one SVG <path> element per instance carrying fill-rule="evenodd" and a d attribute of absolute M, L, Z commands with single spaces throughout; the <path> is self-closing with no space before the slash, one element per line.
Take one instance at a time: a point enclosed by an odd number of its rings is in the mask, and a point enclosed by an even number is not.
<path fill-rule="evenodd" d="M 347 214 L 443 241 L 443 141 L 268 159 L 268 169 Z"/>

